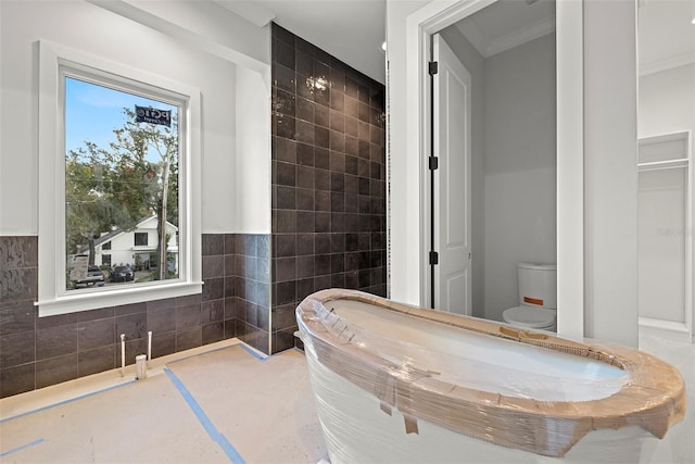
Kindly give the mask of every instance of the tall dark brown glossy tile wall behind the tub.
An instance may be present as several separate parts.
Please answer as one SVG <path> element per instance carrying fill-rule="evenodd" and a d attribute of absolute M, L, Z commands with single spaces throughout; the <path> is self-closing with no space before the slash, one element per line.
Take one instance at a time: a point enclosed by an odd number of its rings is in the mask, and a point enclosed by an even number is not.
<path fill-rule="evenodd" d="M 330 287 L 386 296 L 383 85 L 273 25 L 274 353 Z"/>

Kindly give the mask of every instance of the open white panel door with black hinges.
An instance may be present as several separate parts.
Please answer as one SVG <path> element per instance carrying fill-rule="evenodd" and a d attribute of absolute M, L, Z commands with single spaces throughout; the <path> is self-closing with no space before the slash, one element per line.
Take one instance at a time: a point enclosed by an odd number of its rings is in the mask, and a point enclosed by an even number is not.
<path fill-rule="evenodd" d="M 472 314 L 470 247 L 470 74 L 440 35 L 433 36 L 434 306 Z"/>

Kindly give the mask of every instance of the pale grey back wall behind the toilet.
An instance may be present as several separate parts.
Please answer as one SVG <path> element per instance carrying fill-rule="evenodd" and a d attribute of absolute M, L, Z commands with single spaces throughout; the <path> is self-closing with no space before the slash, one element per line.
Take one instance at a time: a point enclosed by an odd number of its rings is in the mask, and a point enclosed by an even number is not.
<path fill-rule="evenodd" d="M 555 34 L 485 60 L 485 317 L 518 305 L 517 263 L 556 263 Z"/>

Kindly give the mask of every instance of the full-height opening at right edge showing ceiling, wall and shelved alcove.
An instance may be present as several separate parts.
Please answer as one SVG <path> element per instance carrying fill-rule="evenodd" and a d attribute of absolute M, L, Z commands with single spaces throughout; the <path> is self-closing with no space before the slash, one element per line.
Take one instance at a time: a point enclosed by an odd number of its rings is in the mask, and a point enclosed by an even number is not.
<path fill-rule="evenodd" d="M 692 2 L 637 9 L 640 336 L 694 341 Z"/>

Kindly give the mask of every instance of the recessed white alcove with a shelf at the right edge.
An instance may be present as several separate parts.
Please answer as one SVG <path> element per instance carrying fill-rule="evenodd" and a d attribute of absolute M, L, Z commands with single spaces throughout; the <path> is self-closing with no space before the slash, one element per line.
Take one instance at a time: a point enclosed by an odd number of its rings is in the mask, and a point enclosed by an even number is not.
<path fill-rule="evenodd" d="M 640 139 L 639 314 L 643 333 L 692 337 L 691 133 Z"/>

